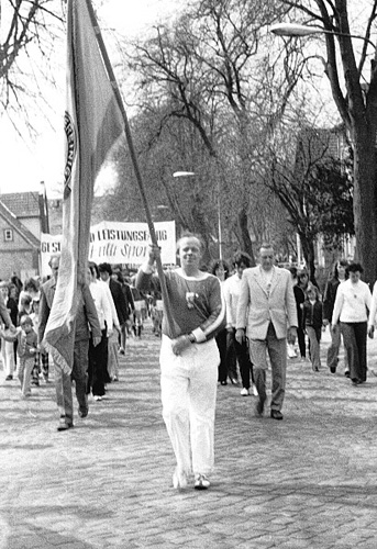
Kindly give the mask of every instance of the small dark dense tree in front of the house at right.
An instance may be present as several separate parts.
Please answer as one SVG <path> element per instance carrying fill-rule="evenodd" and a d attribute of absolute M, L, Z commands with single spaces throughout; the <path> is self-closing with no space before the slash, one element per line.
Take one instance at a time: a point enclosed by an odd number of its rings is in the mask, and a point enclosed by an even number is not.
<path fill-rule="evenodd" d="M 276 155 L 267 176 L 267 186 L 286 208 L 300 236 L 313 282 L 314 244 L 319 236 L 329 247 L 334 247 L 342 237 L 354 234 L 350 159 L 334 156 L 334 152 L 342 148 L 340 143 L 343 143 L 341 128 L 330 132 L 302 127 L 295 144 L 295 164 L 289 167 L 287 161 L 291 152 L 286 156 Z"/>

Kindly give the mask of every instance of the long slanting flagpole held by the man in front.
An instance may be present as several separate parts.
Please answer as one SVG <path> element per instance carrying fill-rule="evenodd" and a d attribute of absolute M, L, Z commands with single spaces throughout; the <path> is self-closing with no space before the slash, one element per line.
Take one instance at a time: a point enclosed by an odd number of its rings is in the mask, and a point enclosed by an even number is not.
<path fill-rule="evenodd" d="M 153 221 L 152 221 L 149 204 L 148 204 L 148 202 L 146 200 L 145 187 L 144 187 L 142 173 L 140 171 L 137 156 L 136 156 L 135 147 L 134 147 L 134 144 L 133 144 L 133 138 L 132 138 L 132 135 L 131 135 L 131 128 L 130 128 L 130 124 L 129 124 L 129 119 L 127 119 L 127 115 L 126 115 L 126 112 L 125 112 L 125 109 L 124 109 L 124 105 L 123 105 L 123 99 L 122 99 L 122 96 L 121 96 L 121 92 L 120 92 L 120 89 L 119 89 L 119 86 L 118 86 L 118 82 L 117 82 L 117 79 L 115 79 L 115 75 L 114 75 L 114 71 L 112 69 L 109 56 L 108 56 L 108 52 L 106 49 L 106 45 L 104 45 L 104 42 L 103 42 L 103 38 L 102 38 L 101 30 L 100 30 L 100 27 L 98 25 L 98 21 L 97 21 L 97 18 L 96 18 L 96 13 L 95 13 L 93 7 L 91 4 L 91 0 L 85 0 L 85 1 L 87 3 L 87 8 L 88 8 L 89 16 L 90 16 L 90 20 L 91 20 L 91 25 L 92 25 L 95 34 L 96 34 L 97 43 L 98 43 L 98 46 L 99 46 L 100 52 L 102 54 L 102 58 L 103 58 L 103 63 L 104 63 L 107 72 L 109 75 L 110 83 L 112 86 L 112 89 L 113 89 L 113 92 L 114 92 L 114 96 L 115 96 L 119 109 L 120 109 L 120 111 L 122 113 L 122 116 L 123 116 L 125 137 L 126 137 L 126 141 L 127 141 L 127 145 L 129 145 L 129 149 L 130 149 L 130 155 L 131 155 L 133 168 L 134 168 L 134 171 L 135 171 L 135 176 L 136 176 L 136 180 L 137 180 L 137 184 L 138 184 L 138 190 L 140 190 L 141 195 L 142 195 L 142 201 L 143 201 L 143 205 L 144 205 L 144 210 L 145 210 L 145 216 L 146 216 L 146 221 L 147 221 L 147 224 L 148 224 L 148 229 L 149 229 L 149 234 L 151 234 L 152 244 L 154 244 L 155 246 L 158 246 L 157 237 L 156 237 L 156 232 L 155 232 L 155 226 L 154 226 Z M 159 257 L 156 258 L 156 266 L 157 266 L 157 273 L 158 273 L 158 278 L 159 278 L 159 282 L 160 282 L 160 287 L 162 287 L 163 300 L 164 300 L 164 303 L 165 303 L 165 314 L 166 314 L 168 324 L 169 324 L 169 326 L 170 326 L 170 328 L 171 328 L 175 337 L 178 337 L 178 335 L 179 335 L 179 333 L 178 333 L 179 328 L 178 328 L 178 325 L 175 322 L 175 320 L 173 317 L 173 314 L 171 314 L 170 300 L 169 300 L 169 296 L 168 296 L 168 293 L 167 293 L 167 287 L 166 287 L 165 276 L 164 276 L 163 264 L 162 264 L 162 260 L 160 260 Z"/>

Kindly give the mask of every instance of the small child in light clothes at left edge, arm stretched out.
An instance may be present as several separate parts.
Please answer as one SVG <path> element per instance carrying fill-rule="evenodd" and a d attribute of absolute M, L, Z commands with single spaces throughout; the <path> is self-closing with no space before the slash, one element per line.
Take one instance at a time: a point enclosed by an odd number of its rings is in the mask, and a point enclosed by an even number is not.
<path fill-rule="evenodd" d="M 24 314 L 15 334 L 10 334 L 5 330 L 1 330 L 0 334 L 7 341 L 14 341 L 15 339 L 18 341 L 18 371 L 21 383 L 21 393 L 23 397 L 31 396 L 31 376 L 37 351 L 37 336 L 33 329 L 33 321 L 29 315 Z"/>

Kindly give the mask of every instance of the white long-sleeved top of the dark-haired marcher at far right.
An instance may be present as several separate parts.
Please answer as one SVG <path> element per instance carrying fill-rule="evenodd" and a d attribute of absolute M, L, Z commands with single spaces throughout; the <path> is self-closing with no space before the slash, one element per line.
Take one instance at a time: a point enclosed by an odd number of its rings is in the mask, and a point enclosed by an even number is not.
<path fill-rule="evenodd" d="M 368 284 L 359 280 L 353 284 L 346 280 L 337 287 L 331 323 L 366 322 L 367 309 L 370 311 L 372 294 Z"/>

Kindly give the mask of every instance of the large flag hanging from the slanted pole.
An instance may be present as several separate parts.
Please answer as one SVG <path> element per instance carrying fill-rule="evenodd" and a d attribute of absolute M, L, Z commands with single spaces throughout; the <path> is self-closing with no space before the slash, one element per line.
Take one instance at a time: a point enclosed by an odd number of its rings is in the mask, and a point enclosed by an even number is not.
<path fill-rule="evenodd" d="M 66 166 L 62 256 L 44 343 L 54 363 L 73 368 L 75 314 L 85 280 L 96 177 L 124 131 L 122 112 L 103 61 L 90 0 L 68 0 Z"/>

